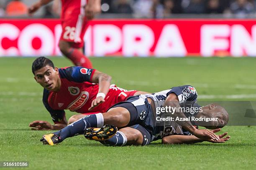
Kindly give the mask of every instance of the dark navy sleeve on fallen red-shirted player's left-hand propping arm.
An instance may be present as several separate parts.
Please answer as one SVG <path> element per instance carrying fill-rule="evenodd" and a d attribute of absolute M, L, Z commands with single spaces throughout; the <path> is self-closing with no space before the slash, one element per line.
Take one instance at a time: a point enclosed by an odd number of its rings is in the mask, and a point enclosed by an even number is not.
<path fill-rule="evenodd" d="M 65 118 L 65 111 L 64 110 L 54 110 L 50 107 L 48 103 L 48 96 L 49 91 L 44 89 L 44 95 L 43 95 L 43 103 L 48 112 L 51 114 L 51 118 L 54 122 L 54 124 L 61 122 L 61 120 L 64 120 Z"/>

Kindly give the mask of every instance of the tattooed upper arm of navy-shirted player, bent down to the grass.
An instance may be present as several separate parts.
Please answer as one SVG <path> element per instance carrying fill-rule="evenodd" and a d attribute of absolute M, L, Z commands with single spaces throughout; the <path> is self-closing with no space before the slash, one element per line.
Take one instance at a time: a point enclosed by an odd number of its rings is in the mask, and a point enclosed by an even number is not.
<path fill-rule="evenodd" d="M 172 107 L 172 108 L 178 108 L 176 109 L 175 112 L 173 112 L 173 118 L 174 120 L 176 120 L 176 117 L 182 118 L 182 121 L 176 121 L 179 125 L 182 126 L 182 128 L 186 129 L 187 131 L 189 131 L 190 133 L 192 133 L 193 135 L 195 135 L 197 138 L 200 138 L 202 140 L 219 140 L 218 135 L 216 135 L 215 133 L 213 133 L 210 130 L 207 129 L 196 129 L 192 123 L 190 121 L 185 121 L 185 118 L 187 118 L 184 113 L 182 112 L 182 109 L 180 108 L 179 105 L 179 99 L 177 97 L 176 94 L 171 93 L 167 96 L 166 101 L 164 102 L 163 107 Z M 184 118 L 184 119 L 183 119 Z"/>

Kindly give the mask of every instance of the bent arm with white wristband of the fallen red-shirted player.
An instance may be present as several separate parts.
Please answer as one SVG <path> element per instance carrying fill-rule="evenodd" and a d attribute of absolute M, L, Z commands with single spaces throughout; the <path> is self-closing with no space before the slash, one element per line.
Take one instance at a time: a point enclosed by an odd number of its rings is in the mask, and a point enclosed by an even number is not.
<path fill-rule="evenodd" d="M 99 91 L 96 99 L 92 100 L 92 105 L 89 110 L 93 110 L 94 107 L 98 106 L 102 102 L 105 102 L 104 99 L 108 94 L 111 79 L 112 77 L 110 75 L 95 70 L 94 74 L 92 75 L 91 82 L 99 83 Z"/>

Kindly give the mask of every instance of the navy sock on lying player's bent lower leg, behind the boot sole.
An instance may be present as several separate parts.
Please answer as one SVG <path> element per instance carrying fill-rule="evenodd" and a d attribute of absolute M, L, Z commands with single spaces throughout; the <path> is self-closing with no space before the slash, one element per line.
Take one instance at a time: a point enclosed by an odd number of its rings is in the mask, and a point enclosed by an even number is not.
<path fill-rule="evenodd" d="M 126 136 L 120 131 L 117 131 L 112 138 L 100 141 L 100 143 L 102 143 L 105 146 L 123 146 L 126 144 L 126 142 Z"/>

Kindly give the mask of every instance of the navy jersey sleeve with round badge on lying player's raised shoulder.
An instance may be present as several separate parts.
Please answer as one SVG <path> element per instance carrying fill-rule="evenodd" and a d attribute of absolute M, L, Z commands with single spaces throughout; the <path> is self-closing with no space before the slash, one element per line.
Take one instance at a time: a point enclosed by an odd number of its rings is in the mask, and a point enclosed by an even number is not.
<path fill-rule="evenodd" d="M 197 101 L 197 91 L 195 87 L 191 85 L 172 87 L 172 89 L 166 94 L 166 96 L 171 93 L 175 93 L 177 95 L 179 99 L 179 104 L 182 104 L 186 101 Z"/>

